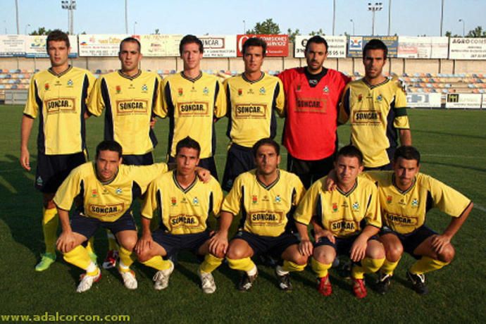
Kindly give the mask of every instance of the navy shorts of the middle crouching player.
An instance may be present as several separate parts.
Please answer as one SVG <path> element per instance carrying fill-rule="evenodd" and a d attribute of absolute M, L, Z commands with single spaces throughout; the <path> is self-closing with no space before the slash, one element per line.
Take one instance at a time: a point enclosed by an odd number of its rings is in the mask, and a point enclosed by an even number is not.
<path fill-rule="evenodd" d="M 261 236 L 240 230 L 232 239 L 243 239 L 256 254 L 269 254 L 280 258 L 282 253 L 293 244 L 299 244 L 299 239 L 293 234 L 283 233 L 277 237 Z"/>

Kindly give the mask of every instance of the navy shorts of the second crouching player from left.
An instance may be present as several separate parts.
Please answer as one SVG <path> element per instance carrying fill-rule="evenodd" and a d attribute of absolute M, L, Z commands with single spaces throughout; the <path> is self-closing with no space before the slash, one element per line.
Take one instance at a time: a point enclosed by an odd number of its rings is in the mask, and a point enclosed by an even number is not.
<path fill-rule="evenodd" d="M 170 234 L 165 230 L 158 229 L 152 232 L 152 238 L 163 249 L 166 250 L 167 256 L 176 255 L 180 250 L 189 250 L 197 254 L 197 251 L 208 239 L 211 238 L 209 230 L 196 234 Z"/>

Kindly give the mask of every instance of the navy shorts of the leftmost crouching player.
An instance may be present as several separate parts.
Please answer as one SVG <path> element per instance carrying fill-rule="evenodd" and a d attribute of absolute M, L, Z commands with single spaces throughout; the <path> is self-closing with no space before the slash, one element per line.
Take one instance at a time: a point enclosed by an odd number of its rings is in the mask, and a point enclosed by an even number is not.
<path fill-rule="evenodd" d="M 131 211 L 127 211 L 114 222 L 103 222 L 98 218 L 87 217 L 82 215 L 79 211 L 75 211 L 71 217 L 70 224 L 73 232 L 77 232 L 88 239 L 94 235 L 100 226 L 107 230 L 111 230 L 113 235 L 116 235 L 116 233 L 123 230 L 137 231 L 137 225 L 135 225 L 135 220 L 133 219 Z"/>

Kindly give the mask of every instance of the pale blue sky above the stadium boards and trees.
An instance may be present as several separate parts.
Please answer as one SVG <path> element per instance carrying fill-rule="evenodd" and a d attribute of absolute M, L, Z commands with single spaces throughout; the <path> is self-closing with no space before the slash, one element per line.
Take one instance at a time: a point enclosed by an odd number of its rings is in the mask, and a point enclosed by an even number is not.
<path fill-rule="evenodd" d="M 375 13 L 375 35 L 387 35 L 389 0 L 381 0 L 382 11 Z M 368 0 L 335 0 L 335 35 L 344 32 L 370 35 L 372 13 Z M 375 1 L 373 1 L 375 3 Z M 391 34 L 440 35 L 442 0 L 392 0 Z M 15 0 L 0 0 L 0 34 L 16 34 Z M 77 0 L 74 11 L 74 33 L 124 34 L 124 0 Z M 152 34 L 241 34 L 258 22 L 273 18 L 282 33 L 287 28 L 299 29 L 301 35 L 322 28 L 332 35 L 333 0 L 127 0 L 128 33 Z M 486 29 L 485 0 L 444 0 L 443 33 L 462 35 L 478 25 Z M 23 34 L 38 27 L 68 30 L 68 11 L 61 0 L 18 0 L 19 32 Z"/>

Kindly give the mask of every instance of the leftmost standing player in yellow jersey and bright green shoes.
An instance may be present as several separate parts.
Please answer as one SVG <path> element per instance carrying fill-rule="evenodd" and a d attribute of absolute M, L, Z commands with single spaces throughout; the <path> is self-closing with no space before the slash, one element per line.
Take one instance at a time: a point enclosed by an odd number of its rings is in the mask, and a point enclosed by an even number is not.
<path fill-rule="evenodd" d="M 30 171 L 27 149 L 34 119 L 39 116 L 35 187 L 43 194 L 42 230 L 46 252 L 35 267 L 49 268 L 56 261 L 58 216 L 52 199 L 73 168 L 87 161 L 85 118 L 94 76 L 69 65 L 69 37 L 54 30 L 46 39 L 51 68 L 30 80 L 21 126 L 20 165 Z"/>

